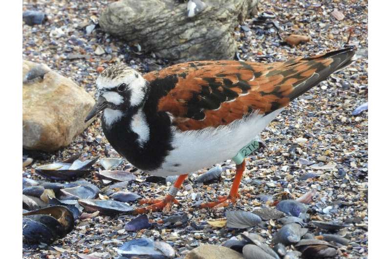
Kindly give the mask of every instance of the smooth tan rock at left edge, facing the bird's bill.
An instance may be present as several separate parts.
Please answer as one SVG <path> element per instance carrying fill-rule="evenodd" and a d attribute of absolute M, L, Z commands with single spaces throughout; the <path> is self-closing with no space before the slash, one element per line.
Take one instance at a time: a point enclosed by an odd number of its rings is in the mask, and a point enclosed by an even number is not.
<path fill-rule="evenodd" d="M 23 61 L 23 148 L 55 151 L 87 128 L 94 99 L 46 65 Z"/>

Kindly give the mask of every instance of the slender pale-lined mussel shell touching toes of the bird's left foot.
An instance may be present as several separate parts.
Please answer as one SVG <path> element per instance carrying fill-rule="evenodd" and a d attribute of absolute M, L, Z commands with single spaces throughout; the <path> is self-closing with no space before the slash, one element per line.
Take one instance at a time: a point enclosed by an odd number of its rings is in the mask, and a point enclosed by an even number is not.
<path fill-rule="evenodd" d="M 102 215 L 118 215 L 123 213 L 130 213 L 133 207 L 124 202 L 115 200 L 88 200 L 80 199 L 79 204 L 82 205 L 88 212 L 100 211 Z"/>

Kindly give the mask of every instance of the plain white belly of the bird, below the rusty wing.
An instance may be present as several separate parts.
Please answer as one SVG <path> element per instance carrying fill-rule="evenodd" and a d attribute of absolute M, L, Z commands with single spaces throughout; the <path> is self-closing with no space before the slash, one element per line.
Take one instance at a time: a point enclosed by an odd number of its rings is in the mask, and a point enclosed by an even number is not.
<path fill-rule="evenodd" d="M 193 173 L 234 157 L 253 140 L 283 110 L 266 116 L 253 113 L 246 120 L 236 120 L 218 128 L 174 133 L 174 150 L 166 157 L 161 168 L 148 173 L 167 176 Z"/>

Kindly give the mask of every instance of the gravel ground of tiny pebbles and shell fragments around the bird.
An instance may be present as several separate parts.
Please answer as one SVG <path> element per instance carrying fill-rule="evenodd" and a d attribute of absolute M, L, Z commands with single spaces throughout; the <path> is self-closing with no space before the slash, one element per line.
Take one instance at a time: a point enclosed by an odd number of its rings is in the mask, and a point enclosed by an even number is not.
<path fill-rule="evenodd" d="M 170 65 L 166 60 L 157 59 L 153 53 L 144 53 L 137 45 L 131 46 L 110 37 L 100 30 L 99 25 L 87 35 L 85 27 L 97 23 L 101 9 L 109 2 L 111 1 L 23 1 L 23 11 L 35 9 L 49 16 L 49 21 L 43 25 L 23 25 L 23 59 L 42 62 L 60 71 L 84 87 L 91 95 L 94 95 L 98 66 L 107 67 L 110 64 L 124 62 L 140 72 L 149 72 Z M 330 14 L 334 8 L 345 15 L 342 21 L 337 21 Z M 276 18 L 268 21 L 274 21 L 280 29 L 277 31 L 272 23 L 254 22 L 254 17 L 249 18 L 236 31 L 239 46 L 237 58 L 263 63 L 339 49 L 348 39 L 349 27 L 353 27 L 350 44 L 356 45 L 358 49 L 368 48 L 368 2 L 365 0 L 264 0 L 259 11 L 260 14 L 263 11 L 273 12 Z M 64 35 L 56 37 L 56 29 L 57 34 L 58 29 L 61 29 Z M 284 38 L 292 33 L 309 36 L 311 41 L 296 47 L 283 44 L 278 34 Z M 97 55 L 97 46 L 105 49 L 105 53 Z M 266 148 L 248 159 L 247 170 L 240 185 L 241 199 L 233 209 L 256 209 L 264 203 L 260 194 L 289 192 L 289 195 L 299 197 L 315 189 L 317 195 L 310 204 L 311 219 L 353 222 L 343 233 L 350 240 L 350 244 L 339 251 L 337 258 L 366 258 L 368 112 L 364 111 L 357 116 L 351 115 L 354 108 L 365 102 L 368 102 L 366 58 L 332 75 L 292 102 L 261 133 Z M 104 138 L 98 119 L 65 149 L 50 154 L 23 151 L 35 158 L 32 166 L 23 170 L 23 177 L 41 179 L 41 176 L 34 173 L 35 167 L 60 161 L 77 152 L 82 152 L 86 158 L 118 156 Z M 320 163 L 320 166 L 329 164 L 330 169 L 311 168 L 299 163 L 299 158 Z M 78 253 L 92 252 L 103 253 L 101 256 L 106 258 L 117 258 L 118 254 L 114 248 L 120 245 L 120 241 L 125 242 L 134 237 L 165 240 L 173 245 L 179 257 L 183 257 L 200 243 L 221 244 L 238 233 L 221 228 L 201 231 L 200 235 L 200 231 L 190 228 L 190 222 L 199 224 L 207 219 L 224 217 L 225 210 L 214 212 L 191 208 L 195 203 L 191 198 L 192 193 L 201 194 L 204 200 L 212 200 L 216 195 L 229 192 L 234 169 L 231 161 L 222 162 L 222 166 L 226 172 L 223 172 L 222 179 L 217 183 L 194 183 L 197 174 L 207 169 L 191 174 L 185 181 L 186 188 L 178 194 L 180 206 L 175 206 L 168 215 L 186 212 L 189 218 L 187 227 L 154 227 L 137 233 L 118 233 L 133 216 L 96 216 L 81 221 L 70 234 L 51 246 L 24 246 L 23 258 L 76 258 Z M 95 167 L 98 167 L 98 163 Z M 140 171 L 133 173 L 139 179 L 148 176 Z M 299 179 L 304 173 L 317 173 L 320 177 Z M 344 173 L 345 176 L 339 177 Z M 100 188 L 104 187 L 93 175 L 85 179 Z M 129 191 L 145 197 L 157 197 L 164 194 L 168 186 L 169 184 L 133 184 Z M 325 213 L 323 210 L 329 205 L 336 204 L 337 209 L 334 212 Z M 153 213 L 149 218 L 159 220 L 165 216 L 167 215 Z M 260 234 L 270 243 L 278 228 L 277 225 L 268 225 L 256 227 L 252 232 Z M 312 233 L 319 234 L 316 230 Z M 65 249 L 65 252 L 61 248 Z"/>

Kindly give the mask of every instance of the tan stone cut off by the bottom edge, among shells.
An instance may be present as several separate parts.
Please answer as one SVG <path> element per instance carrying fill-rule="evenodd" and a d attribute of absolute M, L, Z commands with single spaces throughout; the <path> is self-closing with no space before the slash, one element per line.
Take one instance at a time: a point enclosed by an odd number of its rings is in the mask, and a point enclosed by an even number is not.
<path fill-rule="evenodd" d="M 190 251 L 185 259 L 244 259 L 244 257 L 231 248 L 220 245 L 200 245 Z"/>

